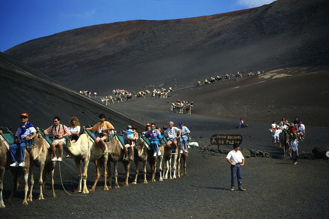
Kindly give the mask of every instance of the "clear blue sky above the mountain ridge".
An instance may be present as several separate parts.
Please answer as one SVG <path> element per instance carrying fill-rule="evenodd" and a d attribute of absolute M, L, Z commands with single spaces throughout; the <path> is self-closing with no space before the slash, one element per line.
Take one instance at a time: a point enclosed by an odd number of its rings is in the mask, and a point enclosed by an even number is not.
<path fill-rule="evenodd" d="M 0 0 L 0 51 L 75 28 L 254 8 L 273 0 Z"/>

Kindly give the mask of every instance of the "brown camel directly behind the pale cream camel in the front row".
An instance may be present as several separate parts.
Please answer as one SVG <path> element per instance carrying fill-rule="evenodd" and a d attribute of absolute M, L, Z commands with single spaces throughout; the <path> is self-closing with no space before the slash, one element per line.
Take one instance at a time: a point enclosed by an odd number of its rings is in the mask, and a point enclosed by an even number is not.
<path fill-rule="evenodd" d="M 112 143 L 111 143 L 112 142 Z M 92 188 L 90 189 L 90 191 L 94 191 L 95 190 L 95 186 L 96 183 L 99 179 L 99 167 L 100 165 L 103 165 L 103 169 L 104 169 L 104 179 L 105 179 L 105 186 L 104 186 L 104 190 L 108 190 L 109 188 L 112 187 L 112 172 L 111 172 L 111 162 L 114 163 L 114 178 L 115 178 L 115 188 L 120 188 L 118 181 L 117 181 L 117 166 L 118 166 L 118 162 L 122 162 L 126 171 L 126 181 L 124 183 L 123 186 L 129 186 L 128 185 L 128 177 L 129 177 L 129 168 L 130 168 L 130 160 L 124 160 L 123 156 L 124 156 L 124 150 L 122 149 L 122 147 L 120 146 L 121 143 L 118 139 L 118 137 L 115 135 L 113 140 L 110 142 L 107 142 L 107 151 L 109 152 L 108 156 L 102 156 L 102 157 L 108 157 L 107 160 L 105 159 L 98 159 L 96 160 L 95 163 L 95 168 L 96 168 L 96 180 L 94 185 L 92 186 Z M 109 182 L 109 187 L 106 186 L 107 183 L 107 173 L 106 173 L 106 166 L 109 169 L 109 178 L 110 178 L 110 182 Z"/>

